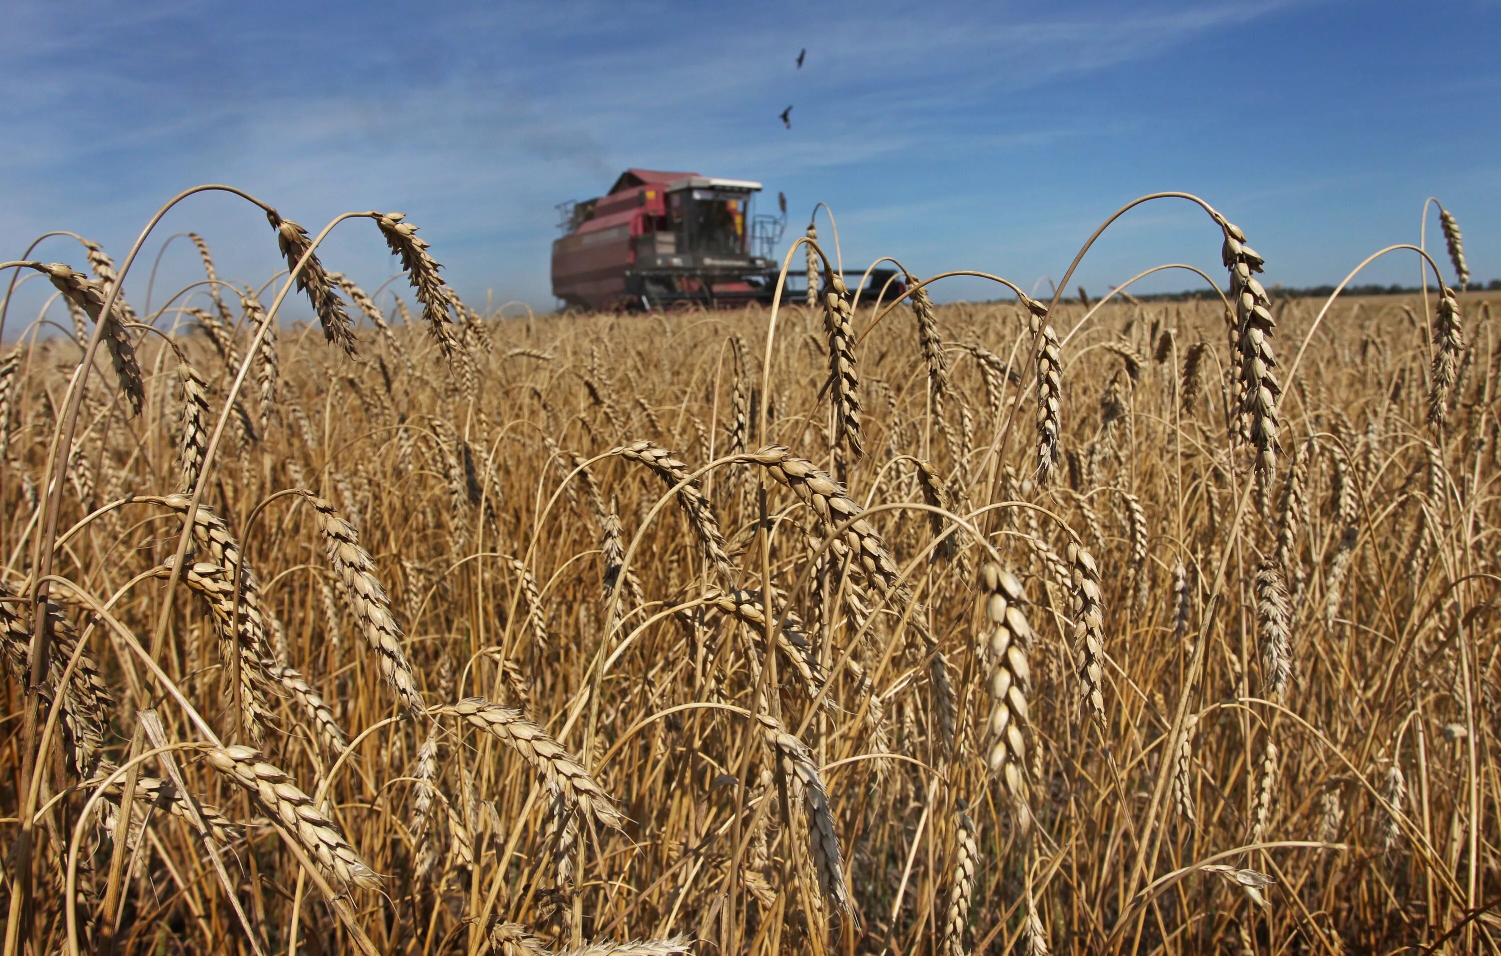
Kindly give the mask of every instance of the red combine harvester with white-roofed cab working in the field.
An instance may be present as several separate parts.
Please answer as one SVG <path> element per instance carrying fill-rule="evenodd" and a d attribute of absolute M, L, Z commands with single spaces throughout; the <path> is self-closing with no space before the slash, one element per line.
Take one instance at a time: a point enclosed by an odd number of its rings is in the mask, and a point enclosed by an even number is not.
<path fill-rule="evenodd" d="M 552 294 L 567 309 L 594 311 L 770 303 L 787 210 L 754 215 L 760 191 L 743 179 L 626 170 L 608 194 L 557 207 Z M 782 299 L 802 300 L 806 273 L 787 275 L 797 282 Z M 872 272 L 872 287 L 892 275 Z"/>

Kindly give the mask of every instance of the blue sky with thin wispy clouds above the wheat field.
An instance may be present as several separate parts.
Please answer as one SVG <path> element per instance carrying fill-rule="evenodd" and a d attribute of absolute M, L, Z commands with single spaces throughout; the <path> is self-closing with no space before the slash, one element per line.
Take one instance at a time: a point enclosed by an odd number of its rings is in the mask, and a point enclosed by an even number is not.
<path fill-rule="evenodd" d="M 122 258 L 159 203 L 224 182 L 311 230 L 407 212 L 465 299 L 548 308 L 554 204 L 648 167 L 758 179 L 763 210 L 784 191 L 788 239 L 827 201 L 847 269 L 889 254 L 1046 288 L 1115 207 L 1178 189 L 1246 230 L 1268 284 L 1333 282 L 1415 242 L 1427 195 L 1465 227 L 1474 276 L 1501 276 L 1495 2 L 12 0 L 5 20 L 5 258 L 53 228 Z M 186 230 L 227 278 L 276 269 L 257 210 L 200 197 L 159 227 L 132 299 L 159 240 Z M 50 243 L 42 258 L 83 264 Z M 1154 204 L 1079 281 L 1103 291 L 1168 261 L 1217 276 L 1217 249 L 1201 215 Z M 368 222 L 341 227 L 324 261 L 368 288 L 395 269 Z M 158 299 L 192 266 L 174 243 Z M 1366 275 L 1417 281 L 1411 257 Z"/>

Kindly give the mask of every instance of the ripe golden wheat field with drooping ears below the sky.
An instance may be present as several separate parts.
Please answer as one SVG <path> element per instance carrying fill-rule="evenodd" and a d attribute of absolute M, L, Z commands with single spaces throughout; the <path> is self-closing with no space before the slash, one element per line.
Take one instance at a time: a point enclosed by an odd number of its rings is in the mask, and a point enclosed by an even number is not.
<path fill-rule="evenodd" d="M 1181 302 L 856 300 L 820 222 L 806 300 L 539 317 L 263 209 L 294 278 L 0 273 L 3 956 L 1496 951 L 1448 212 L 1426 294 L 1205 206 Z"/>

